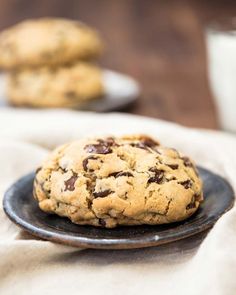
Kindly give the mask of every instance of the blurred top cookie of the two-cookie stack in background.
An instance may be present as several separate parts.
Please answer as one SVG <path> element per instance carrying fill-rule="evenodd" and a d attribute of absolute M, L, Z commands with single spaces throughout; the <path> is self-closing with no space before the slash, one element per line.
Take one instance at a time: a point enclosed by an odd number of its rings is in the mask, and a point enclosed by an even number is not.
<path fill-rule="evenodd" d="M 96 58 L 98 34 L 78 21 L 61 18 L 26 20 L 0 34 L 0 68 L 58 65 Z"/>

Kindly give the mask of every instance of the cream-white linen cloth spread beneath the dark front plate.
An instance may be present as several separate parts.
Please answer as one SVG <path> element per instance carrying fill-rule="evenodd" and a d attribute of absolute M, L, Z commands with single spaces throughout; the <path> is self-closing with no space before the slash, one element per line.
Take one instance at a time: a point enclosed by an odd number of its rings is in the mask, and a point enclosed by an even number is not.
<path fill-rule="evenodd" d="M 155 136 L 227 178 L 236 190 L 231 135 L 125 114 L 2 109 L 0 198 L 48 149 L 83 136 L 127 133 Z M 235 208 L 203 238 L 138 250 L 76 249 L 26 234 L 1 205 L 0 294 L 236 294 Z"/>

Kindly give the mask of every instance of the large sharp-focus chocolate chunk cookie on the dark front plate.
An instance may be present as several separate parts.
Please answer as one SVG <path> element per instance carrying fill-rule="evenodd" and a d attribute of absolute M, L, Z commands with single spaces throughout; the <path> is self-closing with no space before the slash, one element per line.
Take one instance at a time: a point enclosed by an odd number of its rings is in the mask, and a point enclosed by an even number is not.
<path fill-rule="evenodd" d="M 148 136 L 83 139 L 56 149 L 36 172 L 34 197 L 77 224 L 164 224 L 203 200 L 196 167 Z"/>

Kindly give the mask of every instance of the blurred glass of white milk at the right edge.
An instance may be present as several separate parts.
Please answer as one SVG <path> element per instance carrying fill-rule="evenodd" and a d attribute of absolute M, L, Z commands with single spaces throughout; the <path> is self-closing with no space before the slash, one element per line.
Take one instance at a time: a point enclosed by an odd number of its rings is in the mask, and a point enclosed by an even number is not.
<path fill-rule="evenodd" d="M 208 73 L 222 129 L 236 132 L 236 18 L 206 30 Z"/>

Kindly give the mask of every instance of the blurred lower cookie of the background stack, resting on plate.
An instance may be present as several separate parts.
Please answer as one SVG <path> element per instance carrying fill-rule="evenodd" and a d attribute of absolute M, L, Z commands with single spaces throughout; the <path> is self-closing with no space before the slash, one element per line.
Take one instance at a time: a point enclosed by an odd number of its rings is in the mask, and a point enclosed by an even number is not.
<path fill-rule="evenodd" d="M 84 62 L 15 70 L 8 75 L 6 92 L 9 102 L 17 106 L 78 106 L 103 94 L 102 72 Z"/>

